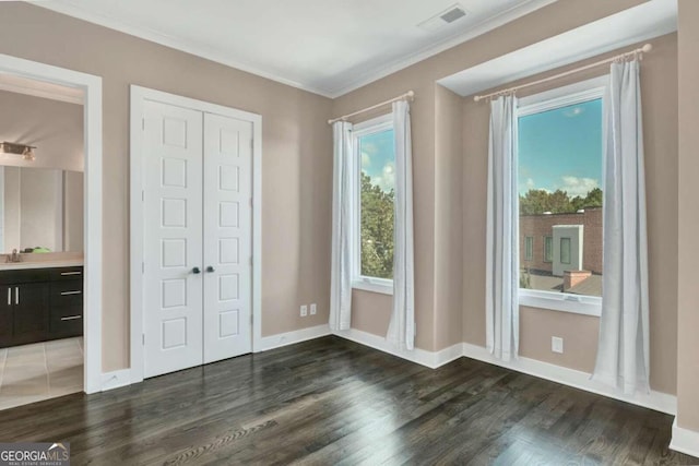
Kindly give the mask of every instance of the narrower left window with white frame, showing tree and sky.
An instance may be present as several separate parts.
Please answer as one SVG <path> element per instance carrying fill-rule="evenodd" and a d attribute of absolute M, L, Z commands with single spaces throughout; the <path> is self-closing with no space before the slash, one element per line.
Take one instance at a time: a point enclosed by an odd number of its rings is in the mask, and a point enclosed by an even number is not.
<path fill-rule="evenodd" d="M 355 124 L 353 287 L 393 292 L 395 147 L 391 115 Z"/>

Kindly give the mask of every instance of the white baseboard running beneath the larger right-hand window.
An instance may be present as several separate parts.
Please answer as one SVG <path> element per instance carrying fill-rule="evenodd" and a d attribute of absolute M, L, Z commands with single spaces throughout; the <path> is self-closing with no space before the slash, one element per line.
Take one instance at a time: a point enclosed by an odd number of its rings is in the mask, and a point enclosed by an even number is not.
<path fill-rule="evenodd" d="M 667 413 L 670 415 L 677 414 L 677 397 L 662 392 L 651 391 L 650 394 L 637 393 L 632 396 L 625 395 L 615 389 L 603 383 L 590 380 L 591 374 L 561 366 L 542 362 L 536 359 L 520 357 L 517 360 L 503 362 L 496 359 L 482 346 L 463 344 L 463 356 L 466 358 L 477 359 L 495 366 L 500 366 L 518 372 L 528 373 L 540 379 L 550 380 L 564 385 L 584 390 L 585 392 L 596 393 L 597 395 L 607 396 L 609 398 L 619 399 L 632 405 L 643 406 L 645 408 L 655 409 L 656 411 Z"/>

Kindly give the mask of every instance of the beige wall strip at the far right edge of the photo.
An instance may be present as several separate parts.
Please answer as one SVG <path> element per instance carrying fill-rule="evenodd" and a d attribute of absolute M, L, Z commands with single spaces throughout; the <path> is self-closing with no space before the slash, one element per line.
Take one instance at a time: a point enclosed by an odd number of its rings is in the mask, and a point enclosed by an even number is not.
<path fill-rule="evenodd" d="M 699 2 L 679 0 L 679 201 L 677 425 L 699 431 Z"/>

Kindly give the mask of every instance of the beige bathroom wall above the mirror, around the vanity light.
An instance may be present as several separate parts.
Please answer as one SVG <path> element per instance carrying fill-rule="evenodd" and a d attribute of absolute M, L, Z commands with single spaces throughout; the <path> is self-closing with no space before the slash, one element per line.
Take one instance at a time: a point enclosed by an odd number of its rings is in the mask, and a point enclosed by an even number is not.
<path fill-rule="evenodd" d="M 82 105 L 0 91 L 0 141 L 37 147 L 36 160 L 3 159 L 2 165 L 83 171 Z"/>

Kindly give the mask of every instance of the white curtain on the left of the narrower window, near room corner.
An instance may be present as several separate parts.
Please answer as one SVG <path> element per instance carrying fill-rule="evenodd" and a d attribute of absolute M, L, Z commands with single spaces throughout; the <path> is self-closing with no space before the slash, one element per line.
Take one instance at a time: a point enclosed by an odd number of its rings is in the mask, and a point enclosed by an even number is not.
<path fill-rule="evenodd" d="M 352 123 L 337 121 L 333 131 L 332 271 L 330 330 L 348 330 L 352 318 Z"/>

